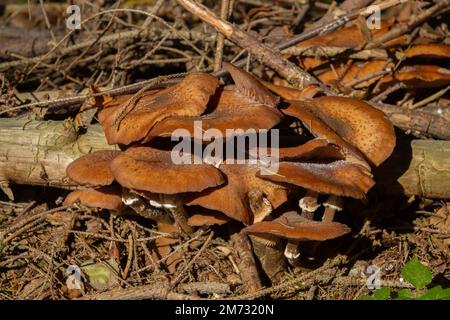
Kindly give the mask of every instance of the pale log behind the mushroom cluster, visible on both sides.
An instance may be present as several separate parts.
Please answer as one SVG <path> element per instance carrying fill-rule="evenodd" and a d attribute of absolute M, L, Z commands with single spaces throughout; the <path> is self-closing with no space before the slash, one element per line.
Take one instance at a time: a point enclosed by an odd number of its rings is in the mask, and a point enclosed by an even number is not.
<path fill-rule="evenodd" d="M 0 186 L 10 183 L 60 188 L 76 185 L 66 177 L 74 159 L 108 145 L 96 124 L 79 134 L 74 123 L 0 119 Z M 377 189 L 388 195 L 450 198 L 450 141 L 399 139 L 393 155 L 374 170 Z"/>

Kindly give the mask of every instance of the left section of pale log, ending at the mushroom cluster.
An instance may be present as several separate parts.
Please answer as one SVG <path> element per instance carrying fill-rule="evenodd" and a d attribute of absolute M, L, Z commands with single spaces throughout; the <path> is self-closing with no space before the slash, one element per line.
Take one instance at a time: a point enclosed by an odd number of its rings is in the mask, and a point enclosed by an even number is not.
<path fill-rule="evenodd" d="M 99 125 L 78 134 L 74 123 L 0 119 L 0 187 L 12 198 L 9 183 L 74 188 L 67 165 L 92 151 L 116 149 Z"/>

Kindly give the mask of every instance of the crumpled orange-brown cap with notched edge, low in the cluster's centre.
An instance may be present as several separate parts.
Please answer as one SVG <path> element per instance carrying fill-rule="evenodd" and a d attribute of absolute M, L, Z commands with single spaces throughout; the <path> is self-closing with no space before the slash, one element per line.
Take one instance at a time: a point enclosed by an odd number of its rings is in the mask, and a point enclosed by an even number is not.
<path fill-rule="evenodd" d="M 253 222 L 248 193 L 260 190 L 273 209 L 287 201 L 287 189 L 279 184 L 256 177 L 257 165 L 222 164 L 220 170 L 226 176 L 225 185 L 192 195 L 187 205 L 199 205 L 223 212 L 245 224 Z"/>

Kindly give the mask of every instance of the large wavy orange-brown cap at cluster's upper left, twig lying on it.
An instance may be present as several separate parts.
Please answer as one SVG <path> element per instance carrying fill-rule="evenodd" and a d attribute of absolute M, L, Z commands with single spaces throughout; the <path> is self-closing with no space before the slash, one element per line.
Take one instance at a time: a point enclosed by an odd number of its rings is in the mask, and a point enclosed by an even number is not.
<path fill-rule="evenodd" d="M 171 116 L 201 115 L 218 84 L 219 81 L 211 75 L 193 73 L 173 86 L 138 99 L 134 106 L 123 103 L 119 107 L 102 110 L 99 121 L 108 143 L 139 141 L 156 123 Z M 126 110 L 130 110 L 128 114 Z M 120 120 L 122 114 L 125 116 Z"/>

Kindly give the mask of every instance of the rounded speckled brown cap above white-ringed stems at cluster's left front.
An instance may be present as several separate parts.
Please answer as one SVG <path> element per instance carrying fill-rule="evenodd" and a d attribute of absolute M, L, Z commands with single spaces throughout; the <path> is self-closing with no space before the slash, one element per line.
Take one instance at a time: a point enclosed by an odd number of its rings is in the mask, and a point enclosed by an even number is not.
<path fill-rule="evenodd" d="M 114 178 L 129 189 L 152 193 L 199 192 L 224 183 L 220 171 L 207 164 L 174 164 L 171 151 L 131 147 L 111 163 Z"/>

